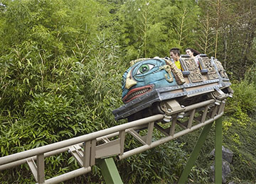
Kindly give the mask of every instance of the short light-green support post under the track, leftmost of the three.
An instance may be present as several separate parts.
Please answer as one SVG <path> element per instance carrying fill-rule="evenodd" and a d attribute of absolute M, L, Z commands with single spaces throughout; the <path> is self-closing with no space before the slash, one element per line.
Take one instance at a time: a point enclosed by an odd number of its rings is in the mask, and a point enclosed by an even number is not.
<path fill-rule="evenodd" d="M 122 184 L 122 179 L 117 171 L 117 166 L 114 163 L 113 158 L 101 159 L 100 169 L 102 171 L 102 176 L 106 184 Z"/>

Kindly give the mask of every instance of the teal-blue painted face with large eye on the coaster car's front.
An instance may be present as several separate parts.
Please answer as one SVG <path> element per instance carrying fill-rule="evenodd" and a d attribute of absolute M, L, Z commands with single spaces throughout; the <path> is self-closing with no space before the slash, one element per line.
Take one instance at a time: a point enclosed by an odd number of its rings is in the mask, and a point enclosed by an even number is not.
<path fill-rule="evenodd" d="M 129 67 L 122 76 L 122 100 L 128 103 L 155 88 L 174 86 L 176 81 L 164 59 L 147 59 Z"/>

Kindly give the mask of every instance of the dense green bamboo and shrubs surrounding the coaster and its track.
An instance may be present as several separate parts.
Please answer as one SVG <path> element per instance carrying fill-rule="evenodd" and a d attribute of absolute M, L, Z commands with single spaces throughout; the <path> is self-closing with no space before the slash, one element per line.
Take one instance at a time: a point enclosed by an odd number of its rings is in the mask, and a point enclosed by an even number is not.
<path fill-rule="evenodd" d="M 0 156 L 122 123 L 111 111 L 122 105 L 129 61 L 193 47 L 220 59 L 232 79 L 234 98 L 223 122 L 224 145 L 235 154 L 229 180 L 254 182 L 255 11 L 254 0 L 1 0 Z M 210 183 L 210 134 L 191 183 Z M 124 183 L 175 183 L 197 135 L 119 161 Z M 51 156 L 46 176 L 71 171 L 74 163 L 68 154 Z M 2 171 L 0 180 L 34 181 L 26 165 Z M 95 166 L 70 182 L 103 179 Z"/>

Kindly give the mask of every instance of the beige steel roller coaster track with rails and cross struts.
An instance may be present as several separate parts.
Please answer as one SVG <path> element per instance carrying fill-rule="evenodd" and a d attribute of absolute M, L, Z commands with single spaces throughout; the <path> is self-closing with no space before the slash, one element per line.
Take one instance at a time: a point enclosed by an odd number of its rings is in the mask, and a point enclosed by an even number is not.
<path fill-rule="evenodd" d="M 117 156 L 120 160 L 125 159 L 214 122 L 223 115 L 225 99 L 210 99 L 181 108 L 175 108 L 176 101 L 171 100 L 168 105 L 174 109 L 170 114 L 153 115 L 62 142 L 1 157 L 0 171 L 27 163 L 37 183 L 60 183 L 89 173 L 92 166 L 95 165 L 96 159 L 110 156 Z M 156 131 L 163 136 L 161 138 L 154 137 Z M 127 134 L 131 134 L 142 145 L 130 150 L 124 149 Z M 153 137 L 154 139 L 152 139 Z M 46 180 L 44 158 L 65 151 L 69 151 L 73 155 L 80 168 Z"/>

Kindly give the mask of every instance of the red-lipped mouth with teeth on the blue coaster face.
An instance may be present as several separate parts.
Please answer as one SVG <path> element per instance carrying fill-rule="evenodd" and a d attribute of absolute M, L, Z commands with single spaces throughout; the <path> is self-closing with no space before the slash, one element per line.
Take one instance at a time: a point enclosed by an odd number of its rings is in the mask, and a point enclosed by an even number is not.
<path fill-rule="evenodd" d="M 127 93 L 124 98 L 122 98 L 124 103 L 128 103 L 129 101 L 134 100 L 135 98 L 138 98 L 139 96 L 143 96 L 145 93 L 151 91 L 153 89 L 154 85 L 148 85 L 148 86 L 142 86 L 139 88 L 134 88 L 131 91 Z"/>

